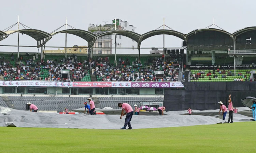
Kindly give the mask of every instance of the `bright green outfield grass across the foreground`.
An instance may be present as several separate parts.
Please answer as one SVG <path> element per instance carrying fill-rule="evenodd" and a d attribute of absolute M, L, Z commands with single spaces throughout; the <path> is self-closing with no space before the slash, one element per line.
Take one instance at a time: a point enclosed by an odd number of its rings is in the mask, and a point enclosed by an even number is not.
<path fill-rule="evenodd" d="M 256 152 L 256 122 L 138 130 L 0 127 L 0 152 Z"/>

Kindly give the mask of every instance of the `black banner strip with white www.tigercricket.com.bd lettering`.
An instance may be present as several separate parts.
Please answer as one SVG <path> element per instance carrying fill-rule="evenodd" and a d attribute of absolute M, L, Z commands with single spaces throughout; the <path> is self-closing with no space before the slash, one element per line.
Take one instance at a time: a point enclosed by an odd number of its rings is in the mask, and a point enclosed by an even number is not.
<path fill-rule="evenodd" d="M 186 65 L 188 69 L 234 69 L 234 65 Z M 256 65 L 236 65 L 238 69 L 255 69 Z"/>

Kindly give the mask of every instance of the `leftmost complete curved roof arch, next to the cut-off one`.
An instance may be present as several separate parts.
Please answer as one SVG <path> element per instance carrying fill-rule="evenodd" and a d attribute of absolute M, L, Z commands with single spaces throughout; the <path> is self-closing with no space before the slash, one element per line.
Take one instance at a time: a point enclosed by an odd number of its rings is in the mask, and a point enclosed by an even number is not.
<path fill-rule="evenodd" d="M 49 38 L 52 36 L 51 34 L 49 34 L 47 32 L 37 30 L 37 29 L 22 29 L 22 30 L 6 31 L 6 33 L 8 35 L 14 34 L 16 32 L 26 34 L 26 35 L 34 38 L 37 41 L 40 41 L 40 40 L 43 40 L 43 39 L 46 39 L 46 38 Z"/>

